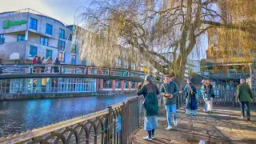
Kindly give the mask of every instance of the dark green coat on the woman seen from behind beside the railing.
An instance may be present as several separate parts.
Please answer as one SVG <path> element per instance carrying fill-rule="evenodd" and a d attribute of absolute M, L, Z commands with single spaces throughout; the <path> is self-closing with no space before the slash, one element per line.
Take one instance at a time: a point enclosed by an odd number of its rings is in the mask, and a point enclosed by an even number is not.
<path fill-rule="evenodd" d="M 146 116 L 156 116 L 158 115 L 158 86 L 154 85 L 154 90 L 152 93 L 147 93 L 147 86 L 138 87 L 138 95 L 144 96 Z"/>

